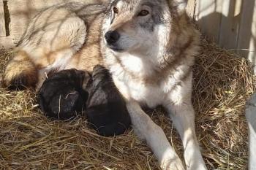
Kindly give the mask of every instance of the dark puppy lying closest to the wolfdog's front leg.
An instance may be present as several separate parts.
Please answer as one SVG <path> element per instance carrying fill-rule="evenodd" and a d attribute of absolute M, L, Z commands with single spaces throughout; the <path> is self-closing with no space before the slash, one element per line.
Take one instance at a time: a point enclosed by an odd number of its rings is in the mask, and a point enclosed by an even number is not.
<path fill-rule="evenodd" d="M 123 134 L 131 121 L 124 98 L 110 73 L 102 66 L 95 66 L 92 80 L 86 109 L 89 123 L 103 136 Z"/>

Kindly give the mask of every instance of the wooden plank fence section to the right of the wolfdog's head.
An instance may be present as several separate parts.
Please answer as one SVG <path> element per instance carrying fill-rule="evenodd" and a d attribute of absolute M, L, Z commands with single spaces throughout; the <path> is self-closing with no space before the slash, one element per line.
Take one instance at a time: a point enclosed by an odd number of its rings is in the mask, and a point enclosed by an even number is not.
<path fill-rule="evenodd" d="M 189 0 L 188 12 L 208 39 L 256 65 L 256 0 Z"/>

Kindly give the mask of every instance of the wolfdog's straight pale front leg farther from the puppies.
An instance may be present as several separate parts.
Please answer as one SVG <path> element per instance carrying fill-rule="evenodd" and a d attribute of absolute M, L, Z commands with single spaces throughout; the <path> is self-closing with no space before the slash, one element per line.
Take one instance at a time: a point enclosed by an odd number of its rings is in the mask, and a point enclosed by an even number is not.
<path fill-rule="evenodd" d="M 170 94 L 165 104 L 184 146 L 184 159 L 189 170 L 205 170 L 195 135 L 195 112 L 191 101 L 192 75 L 181 82 Z"/>

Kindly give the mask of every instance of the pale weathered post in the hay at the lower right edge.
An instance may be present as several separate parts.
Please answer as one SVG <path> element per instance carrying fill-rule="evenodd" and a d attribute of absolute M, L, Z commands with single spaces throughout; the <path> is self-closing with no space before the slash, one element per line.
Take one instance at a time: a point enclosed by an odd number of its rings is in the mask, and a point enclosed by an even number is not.
<path fill-rule="evenodd" d="M 249 125 L 249 170 L 256 169 L 256 93 L 246 104 L 246 120 Z"/>

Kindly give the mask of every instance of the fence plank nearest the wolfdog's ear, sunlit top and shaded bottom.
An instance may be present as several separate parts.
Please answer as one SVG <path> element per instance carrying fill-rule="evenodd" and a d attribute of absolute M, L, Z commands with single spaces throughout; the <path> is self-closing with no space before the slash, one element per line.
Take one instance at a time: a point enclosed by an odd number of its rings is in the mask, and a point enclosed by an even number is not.
<path fill-rule="evenodd" d="M 225 0 L 199 0 L 196 20 L 201 32 L 214 42 L 219 41 L 219 28 L 222 18 L 222 3 Z"/>

